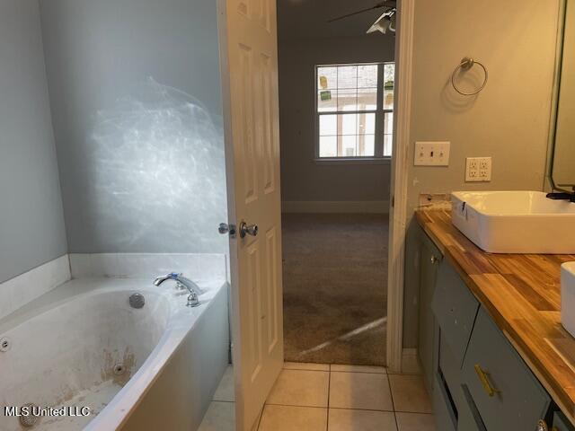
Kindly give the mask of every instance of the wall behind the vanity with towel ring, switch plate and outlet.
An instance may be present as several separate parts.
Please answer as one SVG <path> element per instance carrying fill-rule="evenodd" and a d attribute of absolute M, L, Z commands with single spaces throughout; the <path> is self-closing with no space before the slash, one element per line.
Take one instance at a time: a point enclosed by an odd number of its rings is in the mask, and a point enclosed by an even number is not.
<path fill-rule="evenodd" d="M 451 155 L 447 168 L 411 166 L 408 224 L 420 193 L 543 189 L 558 2 L 417 2 L 409 160 L 418 140 L 451 141 Z M 482 19 L 486 11 L 493 13 Z M 457 95 L 448 81 L 464 56 L 477 57 L 489 68 L 489 83 L 477 97 Z M 482 78 L 479 68 L 474 69 L 471 74 L 478 75 L 470 75 L 464 85 Z M 473 156 L 492 157 L 491 182 L 464 182 L 465 157 Z M 414 347 L 417 340 L 418 286 L 409 278 L 412 238 L 410 232 L 405 347 Z"/>

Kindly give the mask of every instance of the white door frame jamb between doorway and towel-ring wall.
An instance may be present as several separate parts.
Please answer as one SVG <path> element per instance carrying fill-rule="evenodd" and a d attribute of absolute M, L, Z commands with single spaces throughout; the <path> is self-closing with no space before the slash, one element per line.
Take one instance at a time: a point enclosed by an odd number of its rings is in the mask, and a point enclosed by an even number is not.
<path fill-rule="evenodd" d="M 407 232 L 407 190 L 409 139 L 411 127 L 411 78 L 415 0 L 398 1 L 395 37 L 396 104 L 394 152 L 391 175 L 391 207 L 387 277 L 387 367 L 402 371 L 403 358 L 403 283 L 405 234 Z"/>

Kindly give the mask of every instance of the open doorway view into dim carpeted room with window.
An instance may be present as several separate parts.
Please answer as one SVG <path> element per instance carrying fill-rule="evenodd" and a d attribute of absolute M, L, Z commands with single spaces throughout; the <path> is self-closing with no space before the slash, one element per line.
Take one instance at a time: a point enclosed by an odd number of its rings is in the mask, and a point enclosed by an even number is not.
<path fill-rule="evenodd" d="M 383 366 L 394 31 L 321 3 L 278 4 L 284 356 Z"/>

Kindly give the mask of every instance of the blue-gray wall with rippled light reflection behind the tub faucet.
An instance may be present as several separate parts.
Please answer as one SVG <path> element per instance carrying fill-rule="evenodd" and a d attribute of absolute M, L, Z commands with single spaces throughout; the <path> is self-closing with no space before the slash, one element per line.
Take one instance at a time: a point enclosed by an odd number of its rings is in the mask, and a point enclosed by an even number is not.
<path fill-rule="evenodd" d="M 211 0 L 41 2 L 71 252 L 224 252 Z"/>

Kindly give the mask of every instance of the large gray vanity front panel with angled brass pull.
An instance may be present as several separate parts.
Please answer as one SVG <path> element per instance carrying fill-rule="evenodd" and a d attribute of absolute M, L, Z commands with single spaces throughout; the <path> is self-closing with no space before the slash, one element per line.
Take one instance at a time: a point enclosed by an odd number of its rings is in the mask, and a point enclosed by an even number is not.
<path fill-rule="evenodd" d="M 483 308 L 465 353 L 462 380 L 489 431 L 535 430 L 551 404 L 549 394 Z"/>

